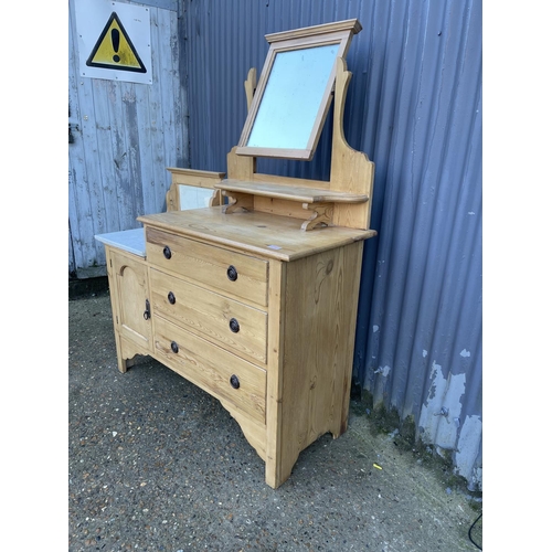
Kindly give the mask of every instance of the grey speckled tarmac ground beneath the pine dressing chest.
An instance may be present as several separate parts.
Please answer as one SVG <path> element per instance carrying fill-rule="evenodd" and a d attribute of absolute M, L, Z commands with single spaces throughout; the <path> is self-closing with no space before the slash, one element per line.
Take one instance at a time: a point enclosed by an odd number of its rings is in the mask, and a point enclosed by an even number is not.
<path fill-rule="evenodd" d="M 274 490 L 220 403 L 144 358 L 117 370 L 107 293 L 68 304 L 68 551 L 476 551 L 480 498 L 351 402 Z"/>

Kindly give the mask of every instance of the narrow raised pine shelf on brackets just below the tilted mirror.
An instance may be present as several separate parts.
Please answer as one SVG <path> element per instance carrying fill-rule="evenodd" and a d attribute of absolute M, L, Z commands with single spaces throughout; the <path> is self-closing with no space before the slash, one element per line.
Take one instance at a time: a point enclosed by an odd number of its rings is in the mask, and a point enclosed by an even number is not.
<path fill-rule="evenodd" d="M 301 203 L 364 203 L 368 201 L 365 194 L 257 181 L 223 180 L 214 184 L 214 188 L 227 192 L 248 193 Z"/>

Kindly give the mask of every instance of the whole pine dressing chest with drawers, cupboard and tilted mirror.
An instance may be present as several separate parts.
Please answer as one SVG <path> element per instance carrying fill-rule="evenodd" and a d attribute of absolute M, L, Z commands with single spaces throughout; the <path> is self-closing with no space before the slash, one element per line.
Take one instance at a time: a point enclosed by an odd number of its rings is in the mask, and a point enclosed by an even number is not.
<path fill-rule="evenodd" d="M 273 488 L 308 445 L 347 429 L 363 243 L 375 235 L 373 163 L 342 129 L 360 30 L 348 20 L 267 35 L 226 173 L 169 168 L 167 212 L 96 236 L 118 369 L 150 355 L 216 397 Z M 311 159 L 331 99 L 329 181 L 256 172 L 257 157 Z M 182 210 L 182 187 L 208 190 L 210 206 Z"/>

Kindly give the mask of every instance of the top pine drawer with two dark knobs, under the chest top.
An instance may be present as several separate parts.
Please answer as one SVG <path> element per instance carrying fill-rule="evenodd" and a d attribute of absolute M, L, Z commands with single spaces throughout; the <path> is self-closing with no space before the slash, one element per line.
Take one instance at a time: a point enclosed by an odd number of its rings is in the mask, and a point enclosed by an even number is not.
<path fill-rule="evenodd" d="M 149 263 L 162 269 L 181 274 L 222 293 L 267 305 L 266 261 L 149 226 L 146 227 L 146 254 Z"/>

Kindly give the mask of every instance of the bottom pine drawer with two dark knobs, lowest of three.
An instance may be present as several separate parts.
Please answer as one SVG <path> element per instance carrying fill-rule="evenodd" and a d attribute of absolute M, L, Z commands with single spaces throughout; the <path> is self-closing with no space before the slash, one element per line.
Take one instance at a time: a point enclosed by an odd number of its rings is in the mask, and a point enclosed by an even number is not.
<path fill-rule="evenodd" d="M 155 354 L 225 404 L 265 423 L 266 372 L 164 318 L 153 316 Z"/>

